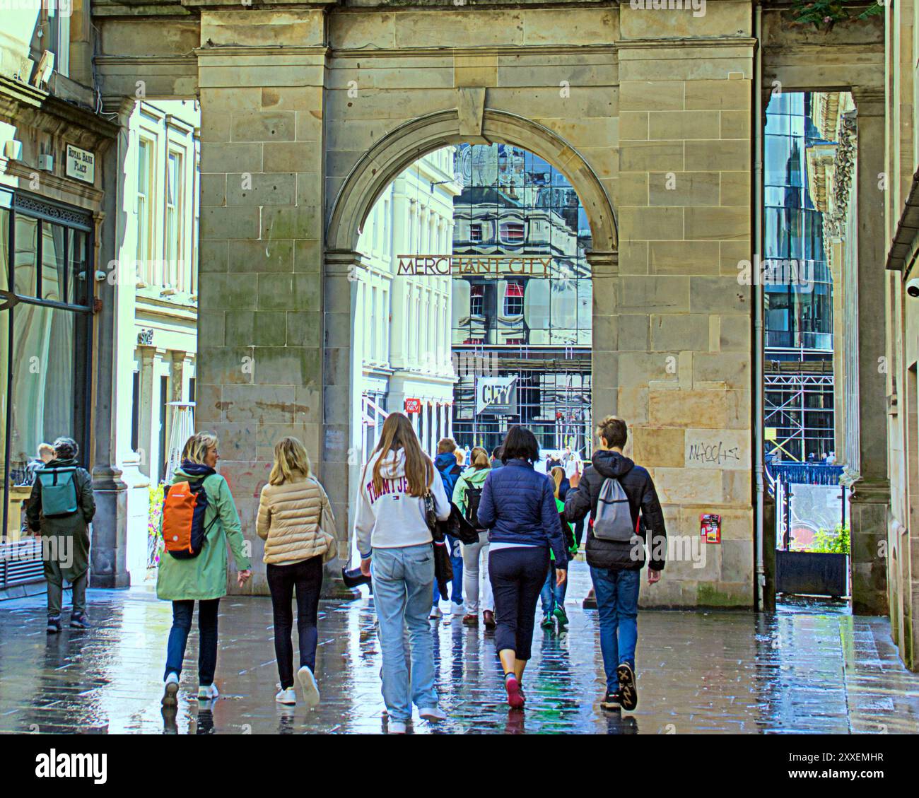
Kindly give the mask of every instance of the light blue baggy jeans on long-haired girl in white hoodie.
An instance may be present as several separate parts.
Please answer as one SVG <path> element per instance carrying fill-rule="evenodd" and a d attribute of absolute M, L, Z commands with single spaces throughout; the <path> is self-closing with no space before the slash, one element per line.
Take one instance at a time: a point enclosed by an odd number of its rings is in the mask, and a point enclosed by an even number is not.
<path fill-rule="evenodd" d="M 430 543 L 401 549 L 374 549 L 371 555 L 373 603 L 380 621 L 383 654 L 383 701 L 391 720 L 412 718 L 419 709 L 437 706 L 434 688 L 434 643 L 427 622 L 434 585 L 434 552 Z M 411 668 L 405 651 L 405 629 Z M 410 684 L 411 680 L 411 684 Z"/>

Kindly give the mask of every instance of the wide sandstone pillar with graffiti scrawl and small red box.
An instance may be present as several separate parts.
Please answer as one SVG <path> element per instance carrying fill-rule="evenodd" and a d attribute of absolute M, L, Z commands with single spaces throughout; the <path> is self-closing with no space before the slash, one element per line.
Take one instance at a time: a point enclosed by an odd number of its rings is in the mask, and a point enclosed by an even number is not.
<path fill-rule="evenodd" d="M 642 606 L 754 604 L 753 7 L 619 5 L 615 293 L 594 279 L 594 340 L 615 343 L 593 409 L 628 422 L 674 545 Z M 699 551 L 702 513 L 721 542 Z"/>

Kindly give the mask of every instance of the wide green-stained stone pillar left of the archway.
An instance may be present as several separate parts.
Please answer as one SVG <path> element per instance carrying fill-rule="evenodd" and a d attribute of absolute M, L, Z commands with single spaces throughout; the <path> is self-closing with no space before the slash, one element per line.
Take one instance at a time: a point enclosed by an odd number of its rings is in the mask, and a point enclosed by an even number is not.
<path fill-rule="evenodd" d="M 196 427 L 221 439 L 253 563 L 243 589 L 265 595 L 255 516 L 275 443 L 296 436 L 323 484 L 340 477 L 321 454 L 323 432 L 338 429 L 323 430 L 323 374 L 338 369 L 323 363 L 324 14 L 220 9 L 200 20 Z M 228 576 L 239 592 L 233 567 Z"/>

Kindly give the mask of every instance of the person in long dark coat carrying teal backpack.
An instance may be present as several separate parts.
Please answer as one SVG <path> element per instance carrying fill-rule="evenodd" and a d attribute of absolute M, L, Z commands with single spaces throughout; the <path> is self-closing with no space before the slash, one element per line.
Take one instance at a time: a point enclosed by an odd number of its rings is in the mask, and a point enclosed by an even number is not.
<path fill-rule="evenodd" d="M 89 523 L 96 515 L 93 478 L 77 465 L 76 441 L 54 441 L 54 459 L 35 474 L 28 498 L 28 528 L 42 541 L 45 579 L 48 580 L 48 633 L 61 631 L 63 580 L 74 587 L 70 625 L 88 629 L 86 573 L 89 569 Z"/>

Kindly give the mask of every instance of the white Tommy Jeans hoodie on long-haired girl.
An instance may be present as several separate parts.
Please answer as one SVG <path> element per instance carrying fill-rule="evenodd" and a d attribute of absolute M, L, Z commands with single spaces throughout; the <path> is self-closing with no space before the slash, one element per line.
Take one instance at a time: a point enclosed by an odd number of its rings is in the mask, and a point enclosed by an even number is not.
<path fill-rule="evenodd" d="M 380 476 L 383 489 L 373 487 L 373 467 L 383 458 Z M 450 517 L 450 503 L 444 483 L 433 474 L 430 491 L 434 496 L 437 519 Z M 377 452 L 361 470 L 357 493 L 357 518 L 354 522 L 357 551 L 365 560 L 372 549 L 401 549 L 431 542 L 431 530 L 425 520 L 424 496 L 409 496 L 405 477 L 405 451 Z"/>

